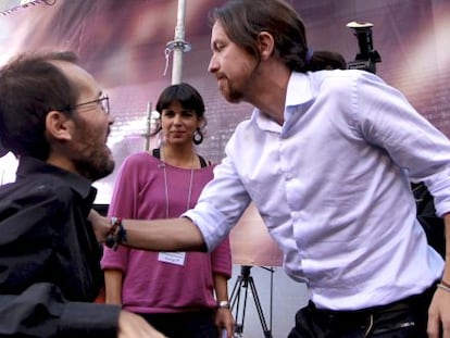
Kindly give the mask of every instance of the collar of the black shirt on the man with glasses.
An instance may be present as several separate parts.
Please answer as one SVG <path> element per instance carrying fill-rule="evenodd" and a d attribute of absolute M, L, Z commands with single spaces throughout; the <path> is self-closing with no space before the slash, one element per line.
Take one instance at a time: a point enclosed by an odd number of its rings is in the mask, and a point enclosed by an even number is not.
<path fill-rule="evenodd" d="M 93 202 L 96 198 L 97 189 L 92 187 L 92 183 L 87 178 L 35 158 L 21 157 L 16 172 L 16 179 L 24 179 L 27 176 L 36 174 L 48 174 L 60 177 L 84 200 L 91 200 L 91 202 Z"/>

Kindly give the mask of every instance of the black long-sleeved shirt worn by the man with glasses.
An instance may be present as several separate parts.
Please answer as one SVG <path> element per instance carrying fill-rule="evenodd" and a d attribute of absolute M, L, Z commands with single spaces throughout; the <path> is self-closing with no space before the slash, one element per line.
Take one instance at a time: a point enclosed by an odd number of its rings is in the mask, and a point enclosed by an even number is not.
<path fill-rule="evenodd" d="M 0 187 L 1 337 L 116 337 L 120 308 L 91 303 L 102 284 L 87 220 L 96 192 L 32 158 Z"/>

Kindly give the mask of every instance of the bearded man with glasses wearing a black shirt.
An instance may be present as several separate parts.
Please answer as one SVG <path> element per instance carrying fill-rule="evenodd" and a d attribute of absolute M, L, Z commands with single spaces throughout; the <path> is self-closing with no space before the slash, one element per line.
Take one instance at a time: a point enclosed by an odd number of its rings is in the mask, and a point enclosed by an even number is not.
<path fill-rule="evenodd" d="M 100 247 L 92 181 L 114 168 L 109 98 L 70 52 L 23 54 L 0 70 L 0 140 L 18 159 L 0 188 L 1 337 L 163 337 L 93 303 Z"/>

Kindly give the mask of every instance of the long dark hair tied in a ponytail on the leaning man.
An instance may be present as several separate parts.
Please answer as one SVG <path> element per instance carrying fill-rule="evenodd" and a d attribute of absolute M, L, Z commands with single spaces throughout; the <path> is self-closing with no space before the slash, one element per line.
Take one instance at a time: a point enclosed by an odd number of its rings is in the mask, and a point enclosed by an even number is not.
<path fill-rule="evenodd" d="M 340 54 L 327 51 L 314 53 L 308 48 L 303 22 L 296 10 L 283 0 L 229 0 L 212 10 L 210 21 L 211 24 L 218 21 L 228 38 L 258 61 L 258 36 L 261 32 L 267 32 L 275 40 L 275 57 L 291 71 L 304 73 L 329 66 L 346 67 Z"/>

